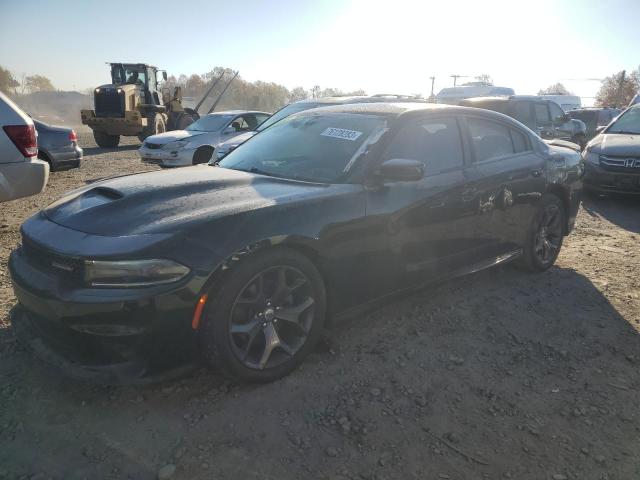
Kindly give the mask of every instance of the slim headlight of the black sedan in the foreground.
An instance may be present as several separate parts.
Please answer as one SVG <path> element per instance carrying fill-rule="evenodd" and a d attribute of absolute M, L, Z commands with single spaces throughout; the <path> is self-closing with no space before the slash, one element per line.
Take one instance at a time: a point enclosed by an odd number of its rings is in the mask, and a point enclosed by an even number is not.
<path fill-rule="evenodd" d="M 85 282 L 92 287 L 149 287 L 177 282 L 188 273 L 184 265 L 164 259 L 89 260 L 84 265 Z"/>

